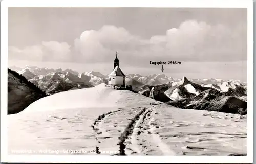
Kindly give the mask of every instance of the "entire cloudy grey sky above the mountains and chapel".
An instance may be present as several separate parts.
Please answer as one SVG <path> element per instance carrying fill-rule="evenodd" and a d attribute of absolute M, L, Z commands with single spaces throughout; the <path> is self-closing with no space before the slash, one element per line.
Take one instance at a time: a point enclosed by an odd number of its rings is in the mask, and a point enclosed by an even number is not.
<path fill-rule="evenodd" d="M 9 8 L 8 65 L 247 81 L 247 9 Z"/>

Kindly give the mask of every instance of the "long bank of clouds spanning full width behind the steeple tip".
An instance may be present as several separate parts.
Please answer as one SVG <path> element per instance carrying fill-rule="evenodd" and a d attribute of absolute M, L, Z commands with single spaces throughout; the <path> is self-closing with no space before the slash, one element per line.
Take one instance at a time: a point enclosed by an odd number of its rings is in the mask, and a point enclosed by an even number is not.
<path fill-rule="evenodd" d="M 10 59 L 68 61 L 76 63 L 112 62 L 118 51 L 122 63 L 148 66 L 156 61 L 239 61 L 247 60 L 247 27 L 208 25 L 187 20 L 167 29 L 165 35 L 149 39 L 135 36 L 123 27 L 105 25 L 86 30 L 68 43 L 42 42 L 24 49 L 9 47 Z"/>

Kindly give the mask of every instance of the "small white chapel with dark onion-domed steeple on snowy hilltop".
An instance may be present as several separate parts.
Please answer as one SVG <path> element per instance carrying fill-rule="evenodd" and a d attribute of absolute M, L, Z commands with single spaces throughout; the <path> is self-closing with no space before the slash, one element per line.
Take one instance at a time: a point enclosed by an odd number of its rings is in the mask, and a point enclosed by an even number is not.
<path fill-rule="evenodd" d="M 117 52 L 114 60 L 114 70 L 109 74 L 109 85 L 125 87 L 125 75 L 119 67 Z"/>

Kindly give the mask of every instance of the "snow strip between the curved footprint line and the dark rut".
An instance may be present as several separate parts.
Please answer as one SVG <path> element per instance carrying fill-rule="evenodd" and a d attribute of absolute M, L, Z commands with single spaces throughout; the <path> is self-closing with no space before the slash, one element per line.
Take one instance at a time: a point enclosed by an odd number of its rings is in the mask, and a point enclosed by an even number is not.
<path fill-rule="evenodd" d="M 97 140 L 96 145 L 99 151 L 104 152 L 104 155 L 118 154 L 117 151 L 120 150 L 119 138 L 141 110 L 140 107 L 119 108 L 119 110 L 100 115 L 92 125 L 97 134 L 95 139 Z"/>

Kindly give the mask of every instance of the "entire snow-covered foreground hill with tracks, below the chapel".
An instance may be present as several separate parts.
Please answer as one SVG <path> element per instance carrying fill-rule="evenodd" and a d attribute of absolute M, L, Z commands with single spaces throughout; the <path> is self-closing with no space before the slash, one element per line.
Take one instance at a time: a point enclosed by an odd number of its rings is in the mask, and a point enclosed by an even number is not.
<path fill-rule="evenodd" d="M 245 155 L 246 120 L 100 84 L 56 93 L 9 115 L 8 146 L 12 154 L 26 148 L 37 155 Z"/>

